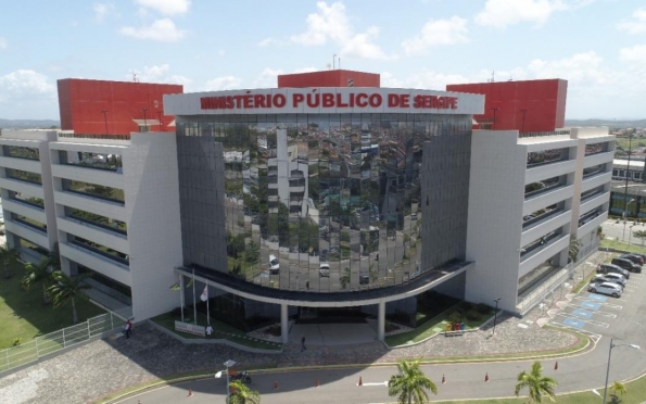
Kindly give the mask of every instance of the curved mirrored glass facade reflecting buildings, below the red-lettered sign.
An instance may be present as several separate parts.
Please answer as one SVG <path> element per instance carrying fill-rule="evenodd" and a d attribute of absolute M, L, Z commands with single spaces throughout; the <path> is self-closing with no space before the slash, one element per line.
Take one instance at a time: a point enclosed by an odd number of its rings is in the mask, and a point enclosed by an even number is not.
<path fill-rule="evenodd" d="M 178 116 L 185 264 L 339 292 L 463 257 L 470 134 L 470 115 Z"/>

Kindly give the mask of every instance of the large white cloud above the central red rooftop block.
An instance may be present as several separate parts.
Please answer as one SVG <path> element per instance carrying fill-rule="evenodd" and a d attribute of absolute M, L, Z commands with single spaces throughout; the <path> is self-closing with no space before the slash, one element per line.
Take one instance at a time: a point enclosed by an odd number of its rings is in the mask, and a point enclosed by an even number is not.
<path fill-rule="evenodd" d="M 325 1 L 316 3 L 318 11 L 307 15 L 307 30 L 290 37 L 294 43 L 304 46 L 325 45 L 328 41 L 341 47 L 339 55 L 359 59 L 388 59 L 381 48 L 372 41 L 379 36 L 379 28 L 369 27 L 355 34 L 345 14 L 345 5 Z"/>

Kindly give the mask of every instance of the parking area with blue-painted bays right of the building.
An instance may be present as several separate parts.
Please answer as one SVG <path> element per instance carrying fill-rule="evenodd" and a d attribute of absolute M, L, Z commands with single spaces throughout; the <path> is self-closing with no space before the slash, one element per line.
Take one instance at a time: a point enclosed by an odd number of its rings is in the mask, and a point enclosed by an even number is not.
<path fill-rule="evenodd" d="M 644 274 L 632 273 L 621 298 L 591 293 L 587 286 L 577 294 L 567 295 L 568 302 L 559 304 L 561 311 L 552 324 L 588 333 L 592 337 L 607 334 L 608 331 L 634 321 L 645 288 Z"/>

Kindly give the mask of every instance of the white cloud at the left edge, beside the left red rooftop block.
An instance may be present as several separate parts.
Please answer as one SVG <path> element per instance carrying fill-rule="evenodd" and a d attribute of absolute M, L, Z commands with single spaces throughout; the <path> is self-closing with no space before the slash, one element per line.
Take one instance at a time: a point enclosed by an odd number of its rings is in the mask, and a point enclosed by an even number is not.
<path fill-rule="evenodd" d="M 29 70 L 20 70 L 0 76 L 0 101 L 22 102 L 38 99 L 54 99 L 55 86 L 47 76 Z"/>

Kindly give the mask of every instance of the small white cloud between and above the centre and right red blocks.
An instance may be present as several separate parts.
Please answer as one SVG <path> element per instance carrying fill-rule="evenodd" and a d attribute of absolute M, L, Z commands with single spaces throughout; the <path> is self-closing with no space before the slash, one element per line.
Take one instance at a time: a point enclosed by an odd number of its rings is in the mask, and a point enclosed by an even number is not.
<path fill-rule="evenodd" d="M 428 48 L 469 41 L 467 21 L 458 16 L 429 21 L 414 38 L 402 43 L 406 54 L 421 54 Z"/>

